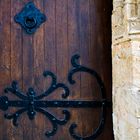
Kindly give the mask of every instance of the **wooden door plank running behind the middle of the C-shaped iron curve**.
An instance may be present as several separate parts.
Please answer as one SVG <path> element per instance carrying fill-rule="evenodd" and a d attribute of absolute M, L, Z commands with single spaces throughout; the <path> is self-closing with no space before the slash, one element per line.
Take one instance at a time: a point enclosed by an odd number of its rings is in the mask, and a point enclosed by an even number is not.
<path fill-rule="evenodd" d="M 88 60 L 90 59 L 89 57 L 89 52 L 88 52 L 88 47 L 89 47 L 89 1 L 85 0 L 80 0 L 80 15 L 79 15 L 79 28 L 80 28 L 80 56 L 81 56 L 81 64 L 83 65 L 88 65 Z M 81 99 L 89 99 L 88 96 L 90 97 L 89 94 L 89 78 L 87 74 L 81 73 L 81 94 L 80 98 Z M 88 92 L 87 92 L 88 91 Z M 81 110 L 81 134 L 85 136 L 87 132 L 87 124 L 88 120 L 87 117 L 87 110 Z M 85 120 L 84 122 L 82 120 Z M 91 125 L 90 125 L 91 126 Z M 88 127 L 90 127 L 88 126 Z M 90 127 L 90 129 L 92 129 Z"/>

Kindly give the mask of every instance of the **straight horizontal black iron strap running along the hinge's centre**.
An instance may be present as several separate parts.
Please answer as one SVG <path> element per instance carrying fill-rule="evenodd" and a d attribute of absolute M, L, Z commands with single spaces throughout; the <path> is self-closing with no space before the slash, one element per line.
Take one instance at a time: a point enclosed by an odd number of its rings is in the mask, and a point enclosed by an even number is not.
<path fill-rule="evenodd" d="M 28 107 L 29 104 L 33 104 L 34 107 L 41 108 L 101 108 L 103 104 L 106 107 L 111 106 L 111 102 L 109 101 L 6 101 L 8 107 Z"/>

